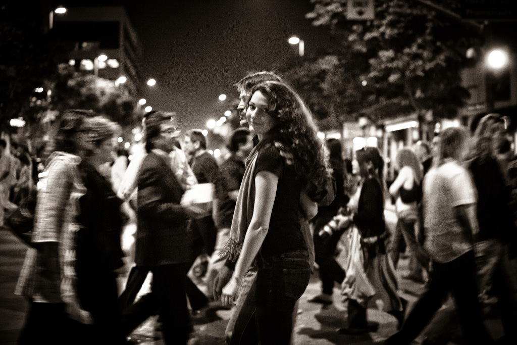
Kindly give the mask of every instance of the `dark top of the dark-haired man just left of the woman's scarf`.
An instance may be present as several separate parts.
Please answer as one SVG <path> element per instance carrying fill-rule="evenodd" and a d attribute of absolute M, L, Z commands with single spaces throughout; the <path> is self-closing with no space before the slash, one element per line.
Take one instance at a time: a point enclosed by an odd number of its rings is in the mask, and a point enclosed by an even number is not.
<path fill-rule="evenodd" d="M 236 201 L 228 197 L 228 192 L 239 190 L 246 168 L 244 162 L 232 154 L 219 167 L 219 183 L 217 197 L 219 199 L 219 224 L 218 228 L 230 228 L 232 226 L 233 213 Z"/>

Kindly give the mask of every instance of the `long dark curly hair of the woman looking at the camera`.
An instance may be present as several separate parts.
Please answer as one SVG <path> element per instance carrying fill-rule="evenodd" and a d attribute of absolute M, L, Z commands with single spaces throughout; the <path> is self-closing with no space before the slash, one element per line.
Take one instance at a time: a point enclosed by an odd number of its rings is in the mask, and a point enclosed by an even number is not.
<path fill-rule="evenodd" d="M 266 81 L 252 88 L 268 100 L 268 114 L 276 119 L 276 139 L 293 155 L 296 177 L 306 186 L 308 182 L 323 186 L 328 175 L 323 143 L 317 137 L 317 127 L 311 112 L 301 97 L 289 86 L 278 81 Z"/>

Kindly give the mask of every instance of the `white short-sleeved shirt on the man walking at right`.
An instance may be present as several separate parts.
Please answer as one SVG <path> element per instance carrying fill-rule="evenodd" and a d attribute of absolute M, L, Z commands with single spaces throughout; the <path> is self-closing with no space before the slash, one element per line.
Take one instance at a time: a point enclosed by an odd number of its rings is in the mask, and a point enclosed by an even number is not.
<path fill-rule="evenodd" d="M 453 160 L 433 167 L 423 181 L 424 247 L 436 262 L 450 262 L 472 250 L 454 207 L 477 202 L 469 172 Z"/>

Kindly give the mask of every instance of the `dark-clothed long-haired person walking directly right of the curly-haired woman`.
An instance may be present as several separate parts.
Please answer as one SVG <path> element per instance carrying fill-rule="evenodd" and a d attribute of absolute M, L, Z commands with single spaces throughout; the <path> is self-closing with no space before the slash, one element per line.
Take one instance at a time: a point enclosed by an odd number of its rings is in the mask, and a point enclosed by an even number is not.
<path fill-rule="evenodd" d="M 331 234 L 321 232 L 324 226 L 338 214 L 340 208 L 346 207 L 349 197 L 345 193 L 345 167 L 341 156 L 342 147 L 338 139 L 327 139 L 326 151 L 332 176 L 336 180 L 336 198 L 328 206 L 318 206 L 317 215 L 311 220 L 314 227 L 314 252 L 315 261 L 318 264 L 322 292 L 309 299 L 309 302 L 332 304 L 332 291 L 334 282 L 341 284 L 345 279 L 345 271 L 336 261 L 336 249 L 343 229 L 331 229 Z"/>

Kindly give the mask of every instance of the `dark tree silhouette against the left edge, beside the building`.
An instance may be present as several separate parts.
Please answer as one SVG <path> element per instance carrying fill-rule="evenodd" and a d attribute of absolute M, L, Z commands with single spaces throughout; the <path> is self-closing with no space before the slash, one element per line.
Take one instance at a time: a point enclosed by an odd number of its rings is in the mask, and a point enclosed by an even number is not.
<path fill-rule="evenodd" d="M 0 130 L 9 132 L 9 120 L 23 116 L 34 123 L 29 110 L 42 95 L 35 92 L 52 80 L 63 47 L 45 33 L 41 4 L 0 6 Z M 36 98 L 36 99 L 34 99 Z"/>

